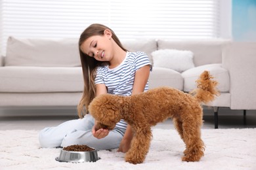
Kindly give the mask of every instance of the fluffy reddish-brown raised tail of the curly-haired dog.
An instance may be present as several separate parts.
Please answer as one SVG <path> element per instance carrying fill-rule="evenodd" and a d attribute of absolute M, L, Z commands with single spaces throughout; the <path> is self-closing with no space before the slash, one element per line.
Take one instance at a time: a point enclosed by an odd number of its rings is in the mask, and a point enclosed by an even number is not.
<path fill-rule="evenodd" d="M 209 71 L 203 71 L 200 78 L 196 80 L 198 88 L 190 92 L 190 94 L 194 95 L 200 103 L 213 101 L 213 99 L 219 95 L 219 90 L 216 88 L 218 82 L 216 80 L 212 80 L 212 78 L 213 76 L 209 75 Z"/>

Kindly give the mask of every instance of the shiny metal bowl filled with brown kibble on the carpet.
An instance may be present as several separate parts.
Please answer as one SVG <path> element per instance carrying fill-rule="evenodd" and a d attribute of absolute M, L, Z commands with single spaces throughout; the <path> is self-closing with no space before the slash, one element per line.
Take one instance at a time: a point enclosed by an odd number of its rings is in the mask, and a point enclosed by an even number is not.
<path fill-rule="evenodd" d="M 85 162 L 97 161 L 99 159 L 95 148 L 90 148 L 85 144 L 75 144 L 62 148 L 62 150 L 60 150 L 60 156 L 55 160 L 65 162 Z"/>

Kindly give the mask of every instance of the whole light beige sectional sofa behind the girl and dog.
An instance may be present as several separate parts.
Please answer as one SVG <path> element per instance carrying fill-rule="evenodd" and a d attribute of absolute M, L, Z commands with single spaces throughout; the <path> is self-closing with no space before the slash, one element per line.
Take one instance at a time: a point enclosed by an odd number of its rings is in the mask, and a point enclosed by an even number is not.
<path fill-rule="evenodd" d="M 189 92 L 196 88 L 200 73 L 210 71 L 221 92 L 206 104 L 215 109 L 215 128 L 219 107 L 256 109 L 256 42 L 140 39 L 122 43 L 128 50 L 144 51 L 150 57 L 150 88 L 171 86 Z M 189 50 L 194 55 L 194 67 L 182 72 L 157 67 L 152 52 L 163 49 Z M 0 107 L 74 107 L 81 98 L 83 76 L 75 39 L 10 37 L 7 54 L 0 62 Z"/>

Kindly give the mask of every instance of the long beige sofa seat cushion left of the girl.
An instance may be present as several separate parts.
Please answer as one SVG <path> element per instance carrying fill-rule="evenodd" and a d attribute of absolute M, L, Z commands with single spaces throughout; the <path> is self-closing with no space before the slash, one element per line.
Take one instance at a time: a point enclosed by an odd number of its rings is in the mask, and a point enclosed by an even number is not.
<path fill-rule="evenodd" d="M 0 67 L 0 92 L 83 92 L 81 67 Z"/>

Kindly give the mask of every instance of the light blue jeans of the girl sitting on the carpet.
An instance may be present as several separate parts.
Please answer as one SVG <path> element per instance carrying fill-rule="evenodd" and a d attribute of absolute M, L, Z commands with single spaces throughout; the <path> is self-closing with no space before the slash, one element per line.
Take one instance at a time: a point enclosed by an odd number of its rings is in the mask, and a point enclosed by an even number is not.
<path fill-rule="evenodd" d="M 43 148 L 66 147 L 73 144 L 86 144 L 96 150 L 119 148 L 125 133 L 124 129 L 113 129 L 108 136 L 97 139 L 91 129 L 95 119 L 91 114 L 84 118 L 70 120 L 56 127 L 46 127 L 39 133 L 39 143 Z"/>

